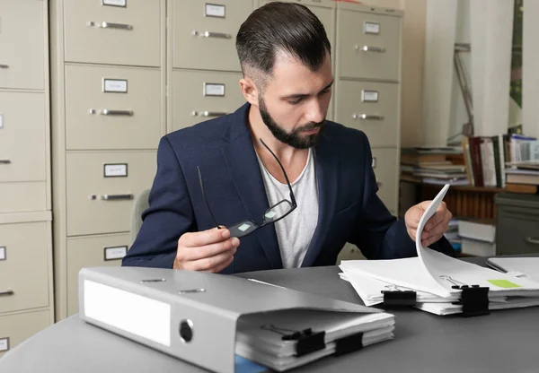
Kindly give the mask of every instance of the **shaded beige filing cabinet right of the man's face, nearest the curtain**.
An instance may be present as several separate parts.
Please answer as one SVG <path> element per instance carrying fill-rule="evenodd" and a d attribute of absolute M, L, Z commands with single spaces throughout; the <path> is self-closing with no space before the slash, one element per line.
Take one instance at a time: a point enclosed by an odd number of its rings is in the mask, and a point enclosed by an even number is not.
<path fill-rule="evenodd" d="M 335 120 L 367 134 L 378 196 L 398 216 L 402 12 L 338 3 Z"/>

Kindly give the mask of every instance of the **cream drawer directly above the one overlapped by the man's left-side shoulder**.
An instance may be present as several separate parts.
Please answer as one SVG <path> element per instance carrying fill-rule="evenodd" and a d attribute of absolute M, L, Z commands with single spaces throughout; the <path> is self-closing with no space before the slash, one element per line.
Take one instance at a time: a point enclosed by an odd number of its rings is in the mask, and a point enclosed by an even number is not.
<path fill-rule="evenodd" d="M 67 149 L 156 149 L 161 91 L 155 69 L 66 65 Z"/>

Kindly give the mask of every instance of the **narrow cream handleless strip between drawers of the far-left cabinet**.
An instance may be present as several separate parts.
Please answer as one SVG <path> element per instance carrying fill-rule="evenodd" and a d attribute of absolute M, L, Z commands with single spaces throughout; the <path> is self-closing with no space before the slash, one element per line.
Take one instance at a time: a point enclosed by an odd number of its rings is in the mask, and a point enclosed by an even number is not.
<path fill-rule="evenodd" d="M 0 213 L 47 210 L 47 183 L 0 183 Z"/>

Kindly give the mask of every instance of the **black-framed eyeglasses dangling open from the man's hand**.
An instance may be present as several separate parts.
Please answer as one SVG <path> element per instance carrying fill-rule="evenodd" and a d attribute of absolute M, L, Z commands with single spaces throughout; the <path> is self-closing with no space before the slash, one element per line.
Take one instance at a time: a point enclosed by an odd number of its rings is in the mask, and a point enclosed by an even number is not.
<path fill-rule="evenodd" d="M 292 192 L 292 186 L 290 185 L 290 181 L 288 180 L 287 172 L 285 171 L 285 168 L 281 164 L 280 160 L 278 160 L 277 156 L 274 152 L 271 152 L 271 149 L 261 140 L 262 145 L 268 151 L 273 155 L 275 160 L 277 160 L 278 165 L 283 170 L 283 174 L 285 175 L 285 179 L 287 180 L 288 189 L 290 190 L 290 200 L 283 199 L 282 201 L 279 201 L 277 204 L 274 204 L 271 206 L 266 212 L 262 215 L 262 222 L 261 224 L 258 224 L 254 221 L 245 220 L 245 221 L 238 221 L 235 224 L 233 224 L 231 227 L 228 227 L 228 230 L 230 230 L 230 237 L 237 237 L 241 238 L 244 236 L 247 236 L 248 234 L 251 234 L 253 231 L 258 230 L 259 228 L 262 228 L 263 226 L 274 223 L 276 221 L 280 221 L 281 219 L 285 218 L 289 213 L 292 213 L 296 207 L 296 198 L 294 197 L 294 192 Z M 204 183 L 202 182 L 202 174 L 200 173 L 200 168 L 197 166 L 197 169 L 199 170 L 199 183 L 200 183 L 200 190 L 202 191 L 202 196 L 204 197 L 204 202 L 206 203 L 206 207 L 208 207 L 208 213 L 211 216 L 211 219 L 216 224 L 217 229 L 220 229 L 219 224 L 217 224 L 216 218 L 214 214 L 211 212 L 211 209 L 209 208 L 208 199 L 206 198 L 206 193 L 204 192 Z"/>

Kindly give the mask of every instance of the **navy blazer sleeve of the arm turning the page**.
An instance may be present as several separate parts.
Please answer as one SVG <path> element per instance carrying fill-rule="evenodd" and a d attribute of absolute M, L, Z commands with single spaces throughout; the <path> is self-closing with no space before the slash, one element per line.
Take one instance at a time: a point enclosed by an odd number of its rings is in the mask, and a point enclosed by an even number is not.
<path fill-rule="evenodd" d="M 394 217 L 377 195 L 378 185 L 372 168 L 372 152 L 367 135 L 363 134 L 364 187 L 362 208 L 349 242 L 356 245 L 367 259 L 395 259 L 417 256 L 415 242 L 411 239 L 404 219 Z M 453 247 L 445 237 L 430 248 L 455 256 Z"/>

